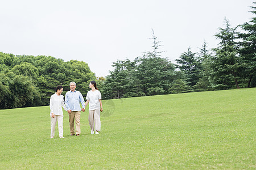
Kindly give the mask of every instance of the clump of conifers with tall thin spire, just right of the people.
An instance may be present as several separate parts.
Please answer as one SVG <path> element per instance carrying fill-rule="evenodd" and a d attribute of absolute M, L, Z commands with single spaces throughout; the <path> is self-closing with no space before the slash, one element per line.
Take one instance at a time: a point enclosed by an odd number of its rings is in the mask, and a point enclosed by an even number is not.
<path fill-rule="evenodd" d="M 175 67 L 167 58 L 160 57 L 159 42 L 153 31 L 153 52 L 144 53 L 134 61 L 126 59 L 113 63 L 114 70 L 106 77 L 104 99 L 168 94 L 175 79 Z"/>

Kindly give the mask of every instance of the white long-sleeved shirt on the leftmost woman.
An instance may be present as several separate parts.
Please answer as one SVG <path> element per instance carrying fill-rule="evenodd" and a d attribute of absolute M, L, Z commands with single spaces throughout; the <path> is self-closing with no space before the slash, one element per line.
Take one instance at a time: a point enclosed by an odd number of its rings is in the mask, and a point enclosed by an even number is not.
<path fill-rule="evenodd" d="M 64 96 L 63 95 L 58 96 L 57 94 L 52 95 L 50 99 L 50 105 L 49 105 L 51 109 L 51 113 L 55 115 L 63 115 L 61 106 L 64 108 L 65 111 L 68 111 L 67 107 L 64 104 Z"/>

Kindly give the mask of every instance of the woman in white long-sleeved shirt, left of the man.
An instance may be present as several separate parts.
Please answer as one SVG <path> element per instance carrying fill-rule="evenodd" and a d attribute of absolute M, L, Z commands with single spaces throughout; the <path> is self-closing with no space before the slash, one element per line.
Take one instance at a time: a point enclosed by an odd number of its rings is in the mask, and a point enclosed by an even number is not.
<path fill-rule="evenodd" d="M 63 92 L 62 86 L 57 86 L 56 93 L 51 96 L 50 99 L 50 109 L 51 109 L 51 138 L 54 137 L 55 133 L 55 125 L 58 121 L 59 126 L 59 136 L 60 138 L 63 137 L 63 111 L 61 106 L 65 109 L 65 111 L 68 111 L 67 107 L 64 104 L 64 96 L 61 95 Z"/>

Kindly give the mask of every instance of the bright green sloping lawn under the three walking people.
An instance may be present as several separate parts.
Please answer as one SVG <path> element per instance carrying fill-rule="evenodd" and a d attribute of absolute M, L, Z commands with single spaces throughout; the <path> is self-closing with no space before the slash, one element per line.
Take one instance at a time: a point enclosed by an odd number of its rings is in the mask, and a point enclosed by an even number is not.
<path fill-rule="evenodd" d="M 0 169 L 256 169 L 256 88 L 105 100 L 101 132 L 50 139 L 49 107 L 0 110 Z"/>

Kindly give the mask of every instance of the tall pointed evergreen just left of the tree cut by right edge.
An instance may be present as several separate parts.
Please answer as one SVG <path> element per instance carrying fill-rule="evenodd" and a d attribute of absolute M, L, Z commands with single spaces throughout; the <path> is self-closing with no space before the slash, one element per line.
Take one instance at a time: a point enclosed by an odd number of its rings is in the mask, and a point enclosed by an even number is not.
<path fill-rule="evenodd" d="M 214 49 L 216 56 L 210 62 L 210 78 L 217 89 L 229 89 L 238 85 L 242 70 L 241 57 L 238 56 L 236 44 L 236 28 L 231 28 L 225 19 L 225 28 L 219 28 L 216 39 L 220 39 L 218 48 Z"/>

